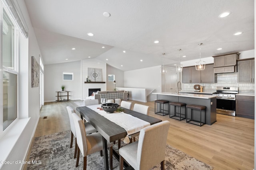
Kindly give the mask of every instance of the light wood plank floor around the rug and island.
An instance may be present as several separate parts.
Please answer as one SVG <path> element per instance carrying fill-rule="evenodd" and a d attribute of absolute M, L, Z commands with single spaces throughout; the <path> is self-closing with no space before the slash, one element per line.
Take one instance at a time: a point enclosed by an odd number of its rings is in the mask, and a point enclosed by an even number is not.
<path fill-rule="evenodd" d="M 154 114 L 154 102 L 136 102 L 150 106 L 150 116 L 170 121 L 167 143 L 214 167 L 214 170 L 254 169 L 254 120 L 217 114 L 217 122 L 202 127 Z M 34 137 L 70 129 L 66 106 L 74 101 L 50 102 L 42 106 Z M 46 119 L 43 119 L 47 116 Z"/>

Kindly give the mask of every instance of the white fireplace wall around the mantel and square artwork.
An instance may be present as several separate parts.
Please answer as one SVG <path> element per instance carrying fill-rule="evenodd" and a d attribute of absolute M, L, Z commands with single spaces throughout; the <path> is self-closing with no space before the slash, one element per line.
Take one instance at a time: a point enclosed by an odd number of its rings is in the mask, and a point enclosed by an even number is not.
<path fill-rule="evenodd" d="M 106 63 L 97 59 L 82 60 L 82 99 L 88 97 L 89 88 L 100 88 L 101 91 L 106 90 L 106 83 L 84 83 L 88 76 L 88 68 L 101 68 L 102 69 L 102 82 L 106 82 Z"/>

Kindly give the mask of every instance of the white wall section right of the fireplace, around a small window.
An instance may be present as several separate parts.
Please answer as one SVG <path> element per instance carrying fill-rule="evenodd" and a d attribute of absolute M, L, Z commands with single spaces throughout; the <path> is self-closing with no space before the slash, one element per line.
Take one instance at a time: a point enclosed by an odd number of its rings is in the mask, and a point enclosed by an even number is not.
<path fill-rule="evenodd" d="M 114 90 L 115 84 L 113 81 L 108 81 L 108 74 L 114 74 L 116 80 L 116 87 L 124 87 L 124 71 L 114 68 L 107 64 L 107 73 L 106 73 L 106 86 L 107 90 Z"/>

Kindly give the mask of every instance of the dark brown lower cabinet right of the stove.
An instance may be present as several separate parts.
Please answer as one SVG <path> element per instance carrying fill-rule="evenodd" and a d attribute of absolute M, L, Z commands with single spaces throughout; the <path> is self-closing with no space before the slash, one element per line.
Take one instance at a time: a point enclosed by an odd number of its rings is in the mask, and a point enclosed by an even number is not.
<path fill-rule="evenodd" d="M 254 119 L 254 96 L 236 95 L 236 116 Z"/>

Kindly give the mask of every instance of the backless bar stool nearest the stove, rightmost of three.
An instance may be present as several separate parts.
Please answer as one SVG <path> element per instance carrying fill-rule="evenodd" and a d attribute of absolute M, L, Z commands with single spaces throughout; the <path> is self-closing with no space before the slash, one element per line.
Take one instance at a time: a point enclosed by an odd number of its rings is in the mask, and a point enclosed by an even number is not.
<path fill-rule="evenodd" d="M 193 125 L 198 125 L 198 123 L 200 123 L 198 126 L 202 126 L 206 123 L 206 106 L 189 104 L 189 105 L 187 105 L 187 109 L 191 109 L 191 119 L 188 120 L 188 115 L 186 116 L 187 123 L 191 123 Z M 200 121 L 193 119 L 193 109 L 200 111 Z M 202 123 L 202 110 L 204 110 L 204 123 Z M 187 114 L 188 114 L 188 110 L 187 110 Z M 190 121 L 192 121 L 192 122 L 190 122 Z M 198 123 L 195 123 L 195 122 L 198 122 Z"/>

